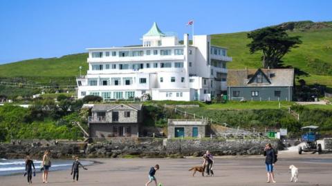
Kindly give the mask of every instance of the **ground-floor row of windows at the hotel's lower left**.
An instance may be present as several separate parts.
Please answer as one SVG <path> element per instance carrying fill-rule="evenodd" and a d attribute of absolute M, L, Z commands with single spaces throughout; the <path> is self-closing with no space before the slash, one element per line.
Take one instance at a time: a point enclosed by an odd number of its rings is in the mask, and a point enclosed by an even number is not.
<path fill-rule="evenodd" d="M 126 91 L 126 92 L 89 92 L 89 95 L 101 96 L 102 99 L 104 99 L 104 100 L 134 99 L 135 98 L 135 92 L 133 92 L 133 91 Z M 81 92 L 81 96 L 86 96 L 86 92 Z"/>

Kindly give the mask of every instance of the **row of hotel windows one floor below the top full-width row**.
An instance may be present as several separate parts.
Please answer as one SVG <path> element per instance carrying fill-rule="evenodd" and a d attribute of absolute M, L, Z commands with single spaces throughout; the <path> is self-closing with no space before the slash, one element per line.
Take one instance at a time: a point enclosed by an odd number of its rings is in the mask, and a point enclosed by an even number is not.
<path fill-rule="evenodd" d="M 104 64 L 104 65 L 91 65 L 92 70 L 140 70 L 143 68 L 172 68 L 173 63 L 125 63 L 125 64 Z M 183 62 L 174 62 L 174 68 L 183 68 Z"/>

